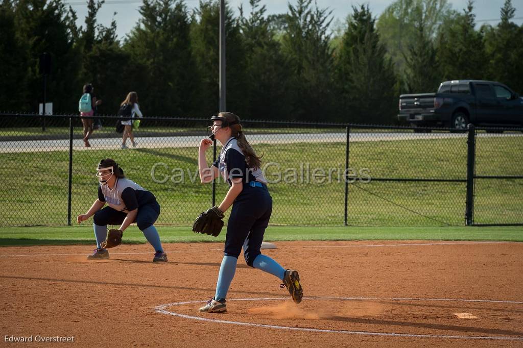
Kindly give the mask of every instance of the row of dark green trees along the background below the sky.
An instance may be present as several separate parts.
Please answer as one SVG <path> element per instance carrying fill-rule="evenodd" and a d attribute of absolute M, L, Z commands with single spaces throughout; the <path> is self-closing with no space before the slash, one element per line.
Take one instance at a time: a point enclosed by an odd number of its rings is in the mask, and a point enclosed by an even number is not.
<path fill-rule="evenodd" d="M 76 113 L 92 83 L 99 112 L 115 114 L 131 90 L 147 116 L 206 118 L 218 111 L 219 2 L 144 0 L 124 39 L 88 0 L 82 26 L 63 0 L 0 0 L 0 109 L 38 110 L 39 56 L 52 70 L 47 100 Z M 244 119 L 395 122 L 404 92 L 436 91 L 449 79 L 492 79 L 523 92 L 523 26 L 506 0 L 497 25 L 476 29 L 473 1 L 396 0 L 377 18 L 353 7 L 343 22 L 313 0 L 267 15 L 250 0 L 239 15 L 226 5 L 227 109 Z M 334 30 L 332 29 L 334 28 Z"/>

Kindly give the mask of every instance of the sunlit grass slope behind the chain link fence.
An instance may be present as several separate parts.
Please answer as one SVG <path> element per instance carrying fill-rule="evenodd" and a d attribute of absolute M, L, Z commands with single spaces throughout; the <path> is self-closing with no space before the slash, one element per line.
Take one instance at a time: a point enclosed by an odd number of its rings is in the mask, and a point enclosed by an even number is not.
<path fill-rule="evenodd" d="M 146 138 L 139 141 L 146 142 Z M 168 144 L 167 144 L 168 145 Z M 298 182 L 270 183 L 274 199 L 272 225 L 342 226 L 344 221 L 343 169 L 345 143 L 300 143 L 256 145 L 265 164 L 277 163 L 266 174 L 269 180 L 294 177 Z M 211 151 L 208 153 L 210 163 Z M 197 144 L 191 148 L 100 150 L 73 153 L 72 219 L 84 213 L 96 199 L 95 168 L 100 158 L 112 157 L 126 175 L 152 191 L 162 206 L 159 224 L 192 223 L 196 214 L 211 205 L 211 185 L 197 178 Z M 0 225 L 67 224 L 67 152 L 0 154 L 3 192 L 0 194 Z M 154 182 L 152 168 L 165 183 Z M 478 138 L 476 173 L 479 175 L 521 175 L 523 138 Z M 309 166 L 309 180 L 300 168 Z M 450 139 L 354 142 L 350 144 L 349 167 L 368 168 L 372 177 L 464 179 L 467 172 L 466 137 Z M 185 181 L 173 169 L 185 172 Z M 292 169 L 294 168 L 294 169 Z M 321 168 L 333 182 L 312 178 L 312 169 Z M 178 174 L 178 175 L 177 175 Z M 342 180 L 336 180 L 337 176 Z M 325 178 L 323 178 L 325 180 Z M 289 181 L 289 180 L 287 180 Z M 217 185 L 217 202 L 228 186 Z M 523 183 L 518 179 L 477 180 L 476 223 L 523 222 Z M 348 223 L 355 226 L 461 226 L 464 223 L 465 183 L 383 182 L 349 184 Z"/>

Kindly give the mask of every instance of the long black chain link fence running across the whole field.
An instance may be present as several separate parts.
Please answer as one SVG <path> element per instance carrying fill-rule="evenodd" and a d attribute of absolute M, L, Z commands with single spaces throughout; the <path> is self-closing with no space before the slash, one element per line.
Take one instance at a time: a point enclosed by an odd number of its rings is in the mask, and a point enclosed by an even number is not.
<path fill-rule="evenodd" d="M 103 127 L 86 147 L 76 115 L 46 116 L 43 123 L 40 115 L 0 114 L 0 225 L 75 223 L 97 198 L 96 166 L 107 157 L 155 194 L 162 207 L 158 224 L 190 225 L 213 195 L 221 202 L 228 185 L 219 178 L 214 191 L 198 175 L 207 119 L 144 118 L 133 131 L 135 147 L 128 141 L 129 148 L 121 148 L 118 119 L 99 118 Z M 263 155 L 274 199 L 272 225 L 523 224 L 520 130 L 471 130 L 475 143 L 469 144 L 467 132 L 442 129 L 242 124 Z M 475 173 L 468 171 L 470 146 Z M 209 165 L 212 160 L 211 148 Z"/>

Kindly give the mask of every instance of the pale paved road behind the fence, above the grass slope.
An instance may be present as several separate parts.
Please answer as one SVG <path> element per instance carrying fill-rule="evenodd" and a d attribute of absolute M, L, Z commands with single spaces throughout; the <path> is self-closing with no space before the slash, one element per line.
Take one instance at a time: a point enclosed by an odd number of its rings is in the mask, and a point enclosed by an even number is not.
<path fill-rule="evenodd" d="M 522 133 L 487 134 L 478 137 L 523 137 Z M 351 142 L 377 142 L 398 140 L 431 140 L 442 138 L 466 138 L 465 133 L 351 133 Z M 345 133 L 292 133 L 292 134 L 252 134 L 247 136 L 251 144 L 291 144 L 345 142 Z M 138 148 L 197 147 L 202 136 L 153 136 L 137 137 Z M 93 138 L 92 147 L 84 147 L 81 139 L 73 140 L 74 150 L 119 149 L 120 138 Z M 129 144 L 129 142 L 128 142 Z M 0 142 L 0 153 L 50 152 L 69 150 L 69 140 L 37 140 Z"/>

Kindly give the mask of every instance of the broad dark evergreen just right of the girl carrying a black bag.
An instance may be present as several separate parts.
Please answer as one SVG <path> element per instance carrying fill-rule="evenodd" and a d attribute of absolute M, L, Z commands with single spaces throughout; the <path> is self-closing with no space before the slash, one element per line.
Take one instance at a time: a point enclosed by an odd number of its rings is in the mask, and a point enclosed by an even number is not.
<path fill-rule="evenodd" d="M 195 108 L 197 75 L 190 45 L 190 22 L 182 0 L 144 0 L 142 18 L 124 43 L 136 76 L 128 91 L 155 116 L 185 116 Z M 125 95 L 122 95 L 123 99 Z"/>

